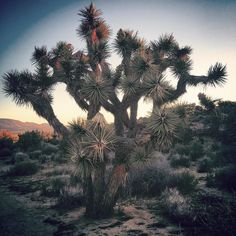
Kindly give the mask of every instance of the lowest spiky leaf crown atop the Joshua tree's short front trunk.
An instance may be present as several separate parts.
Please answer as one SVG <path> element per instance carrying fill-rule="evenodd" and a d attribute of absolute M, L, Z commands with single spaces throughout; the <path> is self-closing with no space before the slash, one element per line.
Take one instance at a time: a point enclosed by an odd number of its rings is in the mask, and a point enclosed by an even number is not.
<path fill-rule="evenodd" d="M 108 129 L 103 121 L 98 115 L 88 122 L 74 121 L 70 124 L 75 135 L 69 142 L 68 155 L 79 164 L 84 164 L 84 161 L 89 165 L 104 162 L 106 154 L 114 149 L 114 131 Z"/>

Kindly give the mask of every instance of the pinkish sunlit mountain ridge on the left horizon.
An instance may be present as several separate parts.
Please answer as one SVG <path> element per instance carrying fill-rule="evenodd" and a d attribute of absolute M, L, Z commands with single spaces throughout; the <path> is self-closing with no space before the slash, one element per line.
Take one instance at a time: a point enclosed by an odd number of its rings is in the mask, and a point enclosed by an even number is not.
<path fill-rule="evenodd" d="M 53 128 L 46 124 L 36 124 L 33 122 L 22 122 L 19 120 L 0 118 L 0 131 L 8 130 L 12 133 L 24 133 L 25 131 L 38 130 L 40 132 L 52 133 Z"/>

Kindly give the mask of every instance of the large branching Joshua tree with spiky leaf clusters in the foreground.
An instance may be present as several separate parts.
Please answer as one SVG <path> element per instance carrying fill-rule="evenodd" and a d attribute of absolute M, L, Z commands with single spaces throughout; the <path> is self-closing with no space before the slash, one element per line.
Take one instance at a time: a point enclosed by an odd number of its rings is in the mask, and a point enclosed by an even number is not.
<path fill-rule="evenodd" d="M 177 117 L 164 105 L 176 101 L 188 86 L 216 86 L 226 81 L 226 68 L 220 63 L 211 66 L 205 76 L 192 75 L 192 49 L 181 47 L 173 35 L 163 35 L 157 41 L 146 43 L 136 32 L 123 29 L 118 31 L 112 44 L 122 61 L 112 69 L 107 62 L 111 53 L 108 42 L 111 31 L 101 14 L 93 4 L 79 12 L 81 23 L 77 33 L 86 42 L 85 51 L 75 52 L 66 42 L 59 42 L 49 52 L 46 47 L 35 47 L 34 74 L 13 71 L 3 78 L 7 95 L 19 105 L 31 105 L 61 135 L 68 135 L 69 131 L 58 121 L 51 107 L 50 91 L 56 83 L 66 84 L 78 106 L 87 111 L 88 120 L 93 119 L 101 107 L 113 114 L 115 139 L 101 122 L 71 125 L 70 153 L 79 163 L 87 215 L 93 217 L 112 213 L 118 190 L 125 181 L 129 153 L 135 147 L 138 132 L 139 100 L 145 98 L 153 104 L 146 128 L 147 141 L 143 143 L 165 147 L 175 136 Z M 177 80 L 176 87 L 167 81 L 167 70 Z M 113 170 L 105 181 L 107 153 L 112 148 L 115 150 Z"/>

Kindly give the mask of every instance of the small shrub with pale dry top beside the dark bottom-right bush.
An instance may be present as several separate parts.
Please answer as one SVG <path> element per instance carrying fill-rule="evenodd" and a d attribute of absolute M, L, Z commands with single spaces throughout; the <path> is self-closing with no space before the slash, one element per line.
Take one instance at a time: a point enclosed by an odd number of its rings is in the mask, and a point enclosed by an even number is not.
<path fill-rule="evenodd" d="M 190 199 L 183 196 L 178 189 L 166 189 L 160 197 L 161 213 L 174 221 L 183 222 L 190 215 Z"/>

